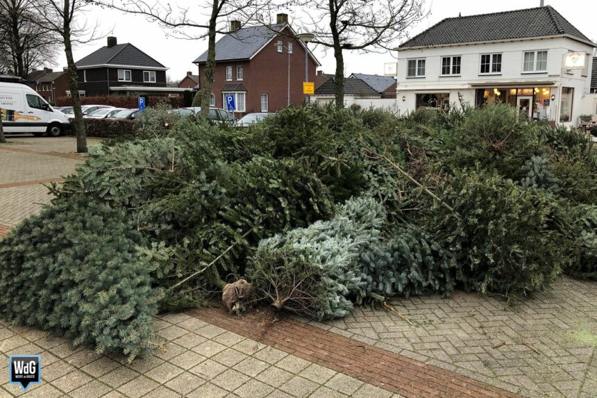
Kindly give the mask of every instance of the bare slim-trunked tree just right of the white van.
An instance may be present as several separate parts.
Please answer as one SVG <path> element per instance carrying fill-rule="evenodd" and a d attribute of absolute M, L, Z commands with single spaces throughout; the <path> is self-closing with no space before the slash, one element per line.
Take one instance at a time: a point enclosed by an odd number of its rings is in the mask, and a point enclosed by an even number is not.
<path fill-rule="evenodd" d="M 79 20 L 86 21 L 85 0 L 35 0 L 40 10 L 45 28 L 56 33 L 65 47 L 67 57 L 67 70 L 69 89 L 71 92 L 73 110 L 75 115 L 74 129 L 76 133 L 77 152 L 87 152 L 87 137 L 83 112 L 81 111 L 81 97 L 78 92 L 76 65 L 73 58 L 72 47 L 75 44 L 87 43 L 95 40 L 96 26 L 87 26 Z"/>

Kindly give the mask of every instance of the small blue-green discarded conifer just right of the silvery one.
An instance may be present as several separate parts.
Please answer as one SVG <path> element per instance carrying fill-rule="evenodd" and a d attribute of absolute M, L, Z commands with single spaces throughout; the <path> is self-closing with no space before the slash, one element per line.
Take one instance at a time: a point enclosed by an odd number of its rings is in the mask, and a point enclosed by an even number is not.
<path fill-rule="evenodd" d="M 456 261 L 432 236 L 416 226 L 402 226 L 359 260 L 364 284 L 357 302 L 382 295 L 451 295 Z"/>

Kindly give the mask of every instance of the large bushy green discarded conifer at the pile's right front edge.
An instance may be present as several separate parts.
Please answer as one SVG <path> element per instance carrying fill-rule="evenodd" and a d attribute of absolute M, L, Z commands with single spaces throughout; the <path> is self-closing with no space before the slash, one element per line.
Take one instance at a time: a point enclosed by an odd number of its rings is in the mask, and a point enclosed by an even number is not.
<path fill-rule="evenodd" d="M 430 231 L 455 254 L 464 288 L 515 299 L 541 290 L 566 264 L 555 199 L 471 169 L 444 183 L 449 212 L 434 204 Z"/>

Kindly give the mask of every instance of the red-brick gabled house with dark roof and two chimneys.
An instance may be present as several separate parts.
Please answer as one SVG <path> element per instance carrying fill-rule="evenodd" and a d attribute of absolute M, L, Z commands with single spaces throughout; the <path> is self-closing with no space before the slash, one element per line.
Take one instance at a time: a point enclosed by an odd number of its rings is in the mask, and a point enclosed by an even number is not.
<path fill-rule="evenodd" d="M 305 47 L 295 38 L 287 15 L 278 14 L 277 18 L 271 26 L 239 28 L 239 22 L 230 23 L 230 33 L 216 43 L 212 106 L 225 108 L 224 96 L 232 94 L 239 117 L 252 112 L 276 112 L 288 103 L 303 103 Z M 200 86 L 205 81 L 206 60 L 207 51 L 193 62 L 199 67 Z M 314 81 L 319 66 L 309 51 L 309 81 Z"/>

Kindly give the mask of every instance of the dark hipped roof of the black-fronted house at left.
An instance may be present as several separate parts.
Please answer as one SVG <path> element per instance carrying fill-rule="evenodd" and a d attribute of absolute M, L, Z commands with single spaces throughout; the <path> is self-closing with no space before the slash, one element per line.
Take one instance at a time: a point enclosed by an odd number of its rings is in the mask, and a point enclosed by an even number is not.
<path fill-rule="evenodd" d="M 131 67 L 162 67 L 146 53 L 137 49 L 131 43 L 116 44 L 112 47 L 101 47 L 101 49 L 90 53 L 85 58 L 76 62 L 77 67 L 91 65 L 126 65 Z"/>

